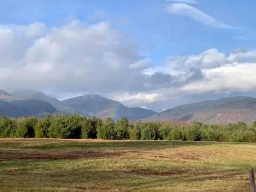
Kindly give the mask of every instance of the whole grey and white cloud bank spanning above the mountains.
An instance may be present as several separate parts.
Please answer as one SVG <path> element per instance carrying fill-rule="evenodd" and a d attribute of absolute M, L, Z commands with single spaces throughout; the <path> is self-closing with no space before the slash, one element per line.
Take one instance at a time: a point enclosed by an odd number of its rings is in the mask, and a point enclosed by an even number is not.
<path fill-rule="evenodd" d="M 204 94 L 247 93 L 256 88 L 256 51 L 217 49 L 169 56 L 154 67 L 139 45 L 109 23 L 73 20 L 0 26 L 0 89 L 34 89 L 58 98 L 98 93 L 154 110 Z"/>

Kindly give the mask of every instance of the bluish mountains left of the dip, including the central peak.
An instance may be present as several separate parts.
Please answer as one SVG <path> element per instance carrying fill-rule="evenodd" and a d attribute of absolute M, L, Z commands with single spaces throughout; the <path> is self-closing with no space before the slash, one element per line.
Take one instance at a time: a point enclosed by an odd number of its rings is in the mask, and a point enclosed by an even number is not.
<path fill-rule="evenodd" d="M 1 96 L 2 95 L 2 96 Z M 103 119 L 112 117 L 118 120 L 127 117 L 139 120 L 156 114 L 143 108 L 128 108 L 118 101 L 100 95 L 84 95 L 59 101 L 38 91 L 15 91 L 13 94 L 0 91 L 0 113 L 11 116 L 44 116 L 45 113 L 81 114 Z"/>

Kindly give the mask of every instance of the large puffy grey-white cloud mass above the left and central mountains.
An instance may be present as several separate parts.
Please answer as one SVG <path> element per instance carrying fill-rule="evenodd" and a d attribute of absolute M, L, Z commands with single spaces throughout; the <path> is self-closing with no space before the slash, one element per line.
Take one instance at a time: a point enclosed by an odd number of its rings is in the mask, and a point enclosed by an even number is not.
<path fill-rule="evenodd" d="M 156 95 L 139 92 L 172 81 L 169 74 L 143 74 L 151 60 L 106 22 L 88 25 L 73 20 L 55 28 L 40 23 L 1 26 L 0 40 L 1 89 L 35 89 L 61 98 L 129 90 L 137 95 L 134 99 L 153 102 Z"/>

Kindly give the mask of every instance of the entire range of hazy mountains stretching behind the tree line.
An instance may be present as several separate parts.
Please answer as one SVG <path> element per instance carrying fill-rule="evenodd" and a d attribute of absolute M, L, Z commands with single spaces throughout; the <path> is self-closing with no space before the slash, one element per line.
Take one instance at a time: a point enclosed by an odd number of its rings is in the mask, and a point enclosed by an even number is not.
<path fill-rule="evenodd" d="M 83 95 L 59 101 L 38 91 L 0 90 L 0 113 L 9 117 L 49 114 L 81 114 L 102 119 L 121 117 L 143 121 L 200 121 L 209 124 L 226 124 L 256 121 L 256 99 L 230 97 L 184 104 L 157 113 L 144 108 L 129 108 L 118 101 L 97 94 Z"/>

